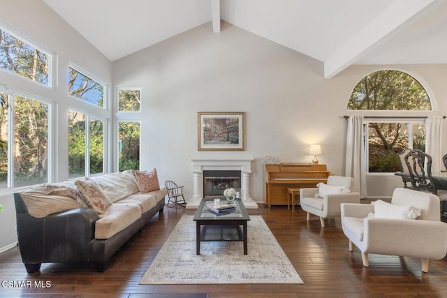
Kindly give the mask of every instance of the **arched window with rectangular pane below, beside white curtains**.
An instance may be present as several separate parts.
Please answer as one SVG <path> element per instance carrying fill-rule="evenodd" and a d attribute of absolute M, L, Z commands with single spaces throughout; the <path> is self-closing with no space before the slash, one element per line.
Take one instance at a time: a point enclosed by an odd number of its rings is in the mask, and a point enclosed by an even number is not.
<path fill-rule="evenodd" d="M 379 70 L 363 77 L 349 97 L 348 110 L 432 110 L 424 87 L 398 70 Z M 368 172 L 400 170 L 397 153 L 405 148 L 425 151 L 423 117 L 365 117 Z"/>

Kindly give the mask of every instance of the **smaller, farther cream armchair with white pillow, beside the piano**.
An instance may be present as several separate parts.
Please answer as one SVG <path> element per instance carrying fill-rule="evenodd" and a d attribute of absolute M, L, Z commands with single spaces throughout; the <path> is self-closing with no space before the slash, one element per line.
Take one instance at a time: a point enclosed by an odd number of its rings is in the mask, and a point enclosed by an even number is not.
<path fill-rule="evenodd" d="M 323 228 L 325 218 L 340 216 L 340 204 L 360 203 L 360 193 L 356 193 L 351 177 L 329 176 L 327 184 L 318 186 L 300 189 L 300 205 L 307 212 L 307 221 L 310 214 L 319 216 Z"/>

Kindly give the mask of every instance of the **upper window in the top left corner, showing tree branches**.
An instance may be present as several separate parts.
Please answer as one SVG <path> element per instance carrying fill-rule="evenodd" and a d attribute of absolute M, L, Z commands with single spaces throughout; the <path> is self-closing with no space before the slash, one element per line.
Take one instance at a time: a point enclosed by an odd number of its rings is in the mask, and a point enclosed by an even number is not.
<path fill-rule="evenodd" d="M 50 86 L 50 54 L 0 27 L 0 68 Z"/>

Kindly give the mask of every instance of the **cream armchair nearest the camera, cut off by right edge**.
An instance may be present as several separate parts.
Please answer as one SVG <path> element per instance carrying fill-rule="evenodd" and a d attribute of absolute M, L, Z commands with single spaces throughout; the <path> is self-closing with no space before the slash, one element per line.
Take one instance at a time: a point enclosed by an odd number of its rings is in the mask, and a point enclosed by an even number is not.
<path fill-rule="evenodd" d="M 402 216 L 402 210 L 412 207 L 420 211 L 416 220 L 397 219 Z M 377 253 L 421 258 L 422 271 L 428 272 L 429 260 L 439 260 L 447 253 L 447 224 L 440 221 L 437 195 L 396 188 L 385 214 L 383 211 L 378 214 L 383 205 L 378 207 L 377 203 L 342 204 L 341 210 L 349 251 L 357 246 L 365 267 L 369 266 L 368 253 Z"/>

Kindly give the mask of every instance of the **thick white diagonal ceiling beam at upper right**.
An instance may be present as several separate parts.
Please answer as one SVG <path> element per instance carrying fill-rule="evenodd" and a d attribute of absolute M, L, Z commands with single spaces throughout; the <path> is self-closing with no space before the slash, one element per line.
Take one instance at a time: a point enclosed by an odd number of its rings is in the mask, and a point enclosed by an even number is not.
<path fill-rule="evenodd" d="M 324 61 L 324 77 L 341 72 L 367 54 L 386 36 L 437 0 L 395 0 L 386 10 Z"/>

